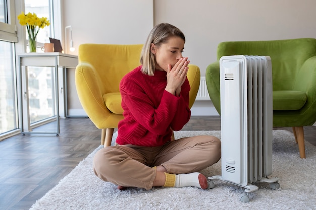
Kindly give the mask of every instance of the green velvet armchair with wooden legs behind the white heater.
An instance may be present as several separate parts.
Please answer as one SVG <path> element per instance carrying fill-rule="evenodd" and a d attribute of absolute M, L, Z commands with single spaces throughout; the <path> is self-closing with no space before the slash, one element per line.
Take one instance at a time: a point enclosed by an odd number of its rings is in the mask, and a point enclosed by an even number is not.
<path fill-rule="evenodd" d="M 218 45 L 217 61 L 206 69 L 210 99 L 220 110 L 219 59 L 229 55 L 267 55 L 272 62 L 273 127 L 292 127 L 301 158 L 304 128 L 316 121 L 316 39 L 235 41 Z"/>

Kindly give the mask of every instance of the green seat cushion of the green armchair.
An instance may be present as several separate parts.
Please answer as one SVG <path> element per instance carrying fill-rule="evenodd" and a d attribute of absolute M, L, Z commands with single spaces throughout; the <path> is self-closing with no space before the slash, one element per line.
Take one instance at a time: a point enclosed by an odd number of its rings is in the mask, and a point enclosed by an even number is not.
<path fill-rule="evenodd" d="M 307 101 L 301 91 L 273 91 L 273 110 L 299 110 Z"/>

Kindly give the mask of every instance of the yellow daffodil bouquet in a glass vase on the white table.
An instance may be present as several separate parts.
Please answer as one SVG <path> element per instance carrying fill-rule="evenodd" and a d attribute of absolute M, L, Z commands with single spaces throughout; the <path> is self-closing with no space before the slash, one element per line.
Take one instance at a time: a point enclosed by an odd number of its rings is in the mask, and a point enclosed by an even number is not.
<path fill-rule="evenodd" d="M 24 12 L 18 15 L 18 20 L 22 26 L 26 26 L 30 52 L 36 52 L 36 36 L 41 28 L 50 25 L 49 20 L 45 17 L 38 18 L 35 13 L 24 14 Z"/>

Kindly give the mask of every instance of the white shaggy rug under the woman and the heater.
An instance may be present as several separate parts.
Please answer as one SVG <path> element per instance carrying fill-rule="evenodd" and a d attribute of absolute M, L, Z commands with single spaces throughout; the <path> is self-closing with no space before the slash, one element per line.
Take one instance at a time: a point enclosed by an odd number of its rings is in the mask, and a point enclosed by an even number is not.
<path fill-rule="evenodd" d="M 220 131 L 179 131 L 175 138 L 192 135 L 215 135 Z M 113 140 L 116 138 L 114 135 Z M 35 209 L 316 209 L 316 147 L 305 141 L 306 159 L 299 158 L 298 146 L 291 132 L 273 131 L 273 173 L 281 188 L 258 184 L 249 193 L 250 202 L 239 196 L 244 188 L 214 180 L 215 188 L 163 188 L 146 191 L 138 188 L 117 190 L 103 182 L 92 171 L 92 159 L 99 146 L 32 206 Z M 201 171 L 206 177 L 220 175 L 221 163 Z"/>

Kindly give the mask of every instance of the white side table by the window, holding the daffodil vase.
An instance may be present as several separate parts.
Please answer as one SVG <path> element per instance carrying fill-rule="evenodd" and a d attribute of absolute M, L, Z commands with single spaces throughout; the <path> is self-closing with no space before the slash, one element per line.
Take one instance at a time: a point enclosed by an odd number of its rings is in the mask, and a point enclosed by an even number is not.
<path fill-rule="evenodd" d="M 54 133 L 59 135 L 60 133 L 60 117 L 67 116 L 67 79 L 66 69 L 75 68 L 78 64 L 78 56 L 63 54 L 60 52 L 48 52 L 48 53 L 20 53 L 18 56 L 18 67 L 20 71 L 20 87 L 21 87 L 21 99 L 20 106 L 22 113 L 20 114 L 21 132 L 22 133 Z M 55 94 L 55 109 L 57 127 L 56 132 L 34 132 L 30 126 L 30 110 L 29 110 L 29 94 L 28 94 L 28 74 L 27 66 L 42 66 L 42 67 L 55 67 L 54 76 L 52 77 Z M 62 68 L 62 72 L 59 75 L 59 67 Z M 60 83 L 60 85 L 59 85 Z M 59 87 L 60 86 L 60 87 Z M 59 98 L 59 88 L 62 94 L 61 100 Z"/>

